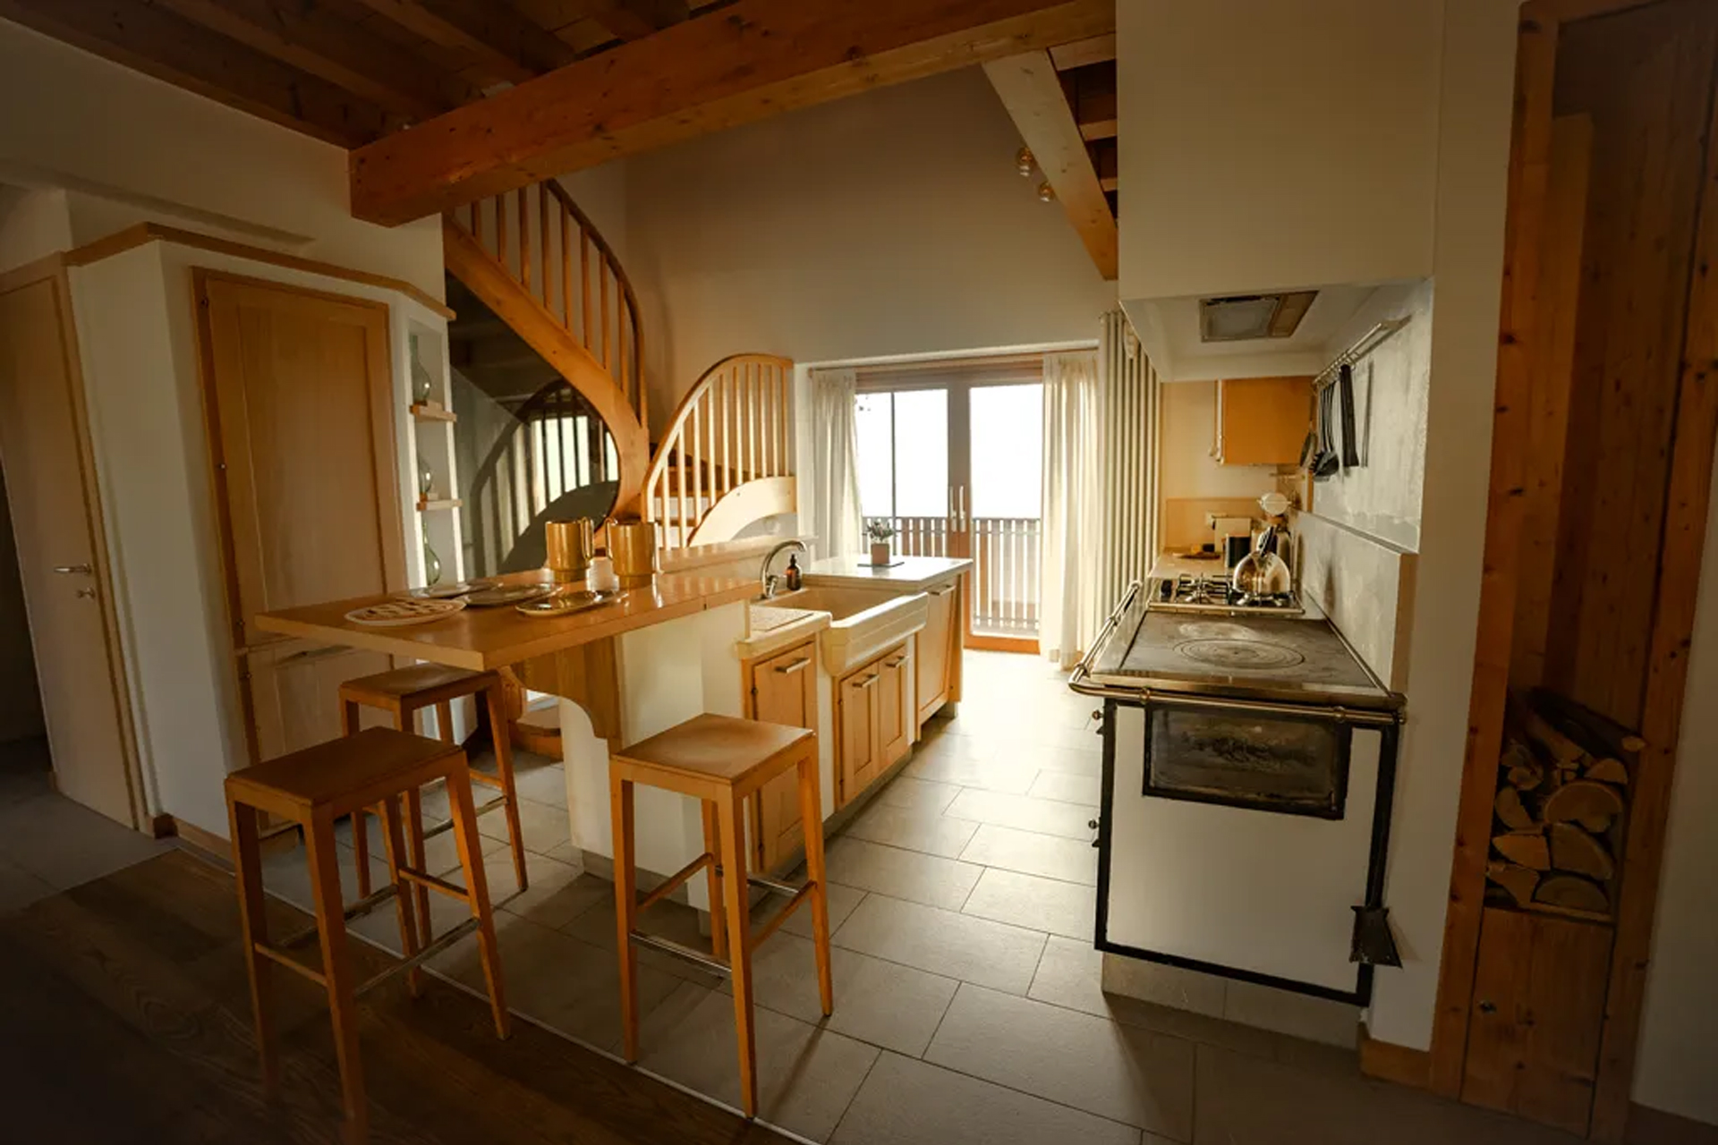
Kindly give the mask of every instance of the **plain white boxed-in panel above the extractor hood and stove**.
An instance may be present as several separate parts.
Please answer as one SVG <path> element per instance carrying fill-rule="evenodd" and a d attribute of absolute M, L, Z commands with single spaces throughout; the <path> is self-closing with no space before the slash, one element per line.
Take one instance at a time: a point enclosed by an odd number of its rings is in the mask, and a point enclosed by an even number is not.
<path fill-rule="evenodd" d="M 1431 273 L 1443 10 L 1118 0 L 1120 295 Z"/>

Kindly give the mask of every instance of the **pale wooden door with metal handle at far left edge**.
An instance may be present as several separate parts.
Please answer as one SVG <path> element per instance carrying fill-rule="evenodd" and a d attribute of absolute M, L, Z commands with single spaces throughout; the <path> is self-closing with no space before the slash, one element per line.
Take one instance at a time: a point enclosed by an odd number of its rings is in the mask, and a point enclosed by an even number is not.
<path fill-rule="evenodd" d="M 141 826 L 82 379 L 58 276 L 0 294 L 0 463 L 60 793 Z"/>

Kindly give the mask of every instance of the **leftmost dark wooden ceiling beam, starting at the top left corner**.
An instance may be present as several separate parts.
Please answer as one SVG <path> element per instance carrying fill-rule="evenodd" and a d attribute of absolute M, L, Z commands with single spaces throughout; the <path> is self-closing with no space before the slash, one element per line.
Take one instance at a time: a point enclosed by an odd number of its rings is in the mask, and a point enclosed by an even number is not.
<path fill-rule="evenodd" d="M 143 0 L 0 0 L 0 17 L 342 148 L 388 127 L 380 106 Z"/>

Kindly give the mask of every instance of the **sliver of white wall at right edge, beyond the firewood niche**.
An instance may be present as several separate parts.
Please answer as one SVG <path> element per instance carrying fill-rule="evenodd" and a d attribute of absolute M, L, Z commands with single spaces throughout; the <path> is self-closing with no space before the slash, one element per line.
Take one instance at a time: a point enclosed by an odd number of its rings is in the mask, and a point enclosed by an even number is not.
<path fill-rule="evenodd" d="M 1718 472 L 1706 518 L 1699 606 L 1689 651 L 1689 688 L 1670 790 L 1670 829 L 1653 922 L 1653 963 L 1641 1015 L 1634 1099 L 1653 1109 L 1718 1124 Z"/>

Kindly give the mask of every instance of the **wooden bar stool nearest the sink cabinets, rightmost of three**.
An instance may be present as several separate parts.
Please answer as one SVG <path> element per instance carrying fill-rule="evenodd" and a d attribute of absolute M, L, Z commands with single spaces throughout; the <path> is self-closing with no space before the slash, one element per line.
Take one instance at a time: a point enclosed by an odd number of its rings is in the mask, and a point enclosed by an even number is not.
<path fill-rule="evenodd" d="M 789 767 L 799 767 L 799 809 L 806 836 L 806 882 L 792 886 L 746 874 L 746 797 Z M 643 783 L 703 800 L 704 853 L 637 901 L 632 855 L 632 786 Z M 758 1047 L 752 1035 L 751 956 L 794 910 L 811 900 L 811 930 L 818 958 L 823 1013 L 835 1009 L 830 982 L 830 906 L 823 874 L 823 798 L 818 793 L 818 735 L 807 728 L 694 716 L 661 735 L 622 748 L 608 759 L 615 815 L 615 917 L 620 946 L 620 1027 L 627 1061 L 639 1056 L 637 951 L 649 946 L 696 961 L 734 984 L 734 1028 L 739 1033 L 740 1095 L 746 1116 L 758 1114 Z M 710 872 L 710 934 L 715 956 L 639 930 L 637 915 L 675 888 Z M 751 894 L 758 886 L 787 894 L 787 905 L 751 932 Z M 727 961 L 723 961 L 727 954 Z"/>

